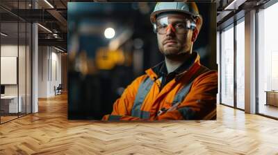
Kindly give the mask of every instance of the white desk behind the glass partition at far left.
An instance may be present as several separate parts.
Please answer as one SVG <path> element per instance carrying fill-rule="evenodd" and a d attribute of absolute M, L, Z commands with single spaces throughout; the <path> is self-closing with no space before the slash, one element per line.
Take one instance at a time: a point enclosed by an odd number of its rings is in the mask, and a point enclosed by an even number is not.
<path fill-rule="evenodd" d="M 17 95 L 1 96 L 1 109 L 4 113 L 17 113 L 22 111 L 22 96 L 19 95 L 18 98 L 19 102 L 17 107 Z"/>

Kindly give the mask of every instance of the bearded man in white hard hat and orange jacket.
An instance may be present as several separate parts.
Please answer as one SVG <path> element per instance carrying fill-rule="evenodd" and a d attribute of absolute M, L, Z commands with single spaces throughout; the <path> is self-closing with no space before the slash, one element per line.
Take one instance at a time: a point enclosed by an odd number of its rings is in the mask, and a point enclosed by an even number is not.
<path fill-rule="evenodd" d="M 218 74 L 193 52 L 202 27 L 197 5 L 159 2 L 150 19 L 165 61 L 136 78 L 103 120 L 214 120 Z"/>

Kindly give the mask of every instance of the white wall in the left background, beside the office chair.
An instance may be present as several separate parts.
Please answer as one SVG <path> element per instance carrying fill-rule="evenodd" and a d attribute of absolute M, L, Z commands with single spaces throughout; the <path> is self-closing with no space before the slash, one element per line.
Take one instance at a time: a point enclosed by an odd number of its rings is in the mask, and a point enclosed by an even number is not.
<path fill-rule="evenodd" d="M 39 46 L 38 97 L 48 98 L 55 95 L 54 86 L 61 83 L 61 53 L 50 46 Z M 55 75 L 56 74 L 56 75 Z"/>

